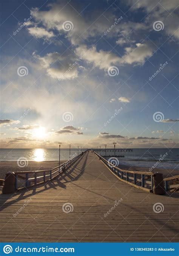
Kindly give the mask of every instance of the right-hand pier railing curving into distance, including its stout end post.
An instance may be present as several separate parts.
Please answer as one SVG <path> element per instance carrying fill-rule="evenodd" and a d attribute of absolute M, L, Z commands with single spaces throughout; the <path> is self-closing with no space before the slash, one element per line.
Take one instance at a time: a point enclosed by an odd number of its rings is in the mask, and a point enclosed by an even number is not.
<path fill-rule="evenodd" d="M 93 152 L 121 181 L 147 192 L 165 194 L 164 179 L 161 173 L 122 170 L 95 151 Z"/>

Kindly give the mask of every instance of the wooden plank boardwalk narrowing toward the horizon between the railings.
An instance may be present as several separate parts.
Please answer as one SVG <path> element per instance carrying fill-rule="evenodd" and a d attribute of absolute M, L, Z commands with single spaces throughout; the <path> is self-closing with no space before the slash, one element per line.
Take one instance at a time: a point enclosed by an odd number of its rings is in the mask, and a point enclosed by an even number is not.
<path fill-rule="evenodd" d="M 179 242 L 178 198 L 178 193 L 154 195 L 119 181 L 87 152 L 53 181 L 0 195 L 0 241 Z M 73 211 L 64 212 L 65 203 Z M 155 203 L 163 204 L 163 212 L 154 212 Z"/>

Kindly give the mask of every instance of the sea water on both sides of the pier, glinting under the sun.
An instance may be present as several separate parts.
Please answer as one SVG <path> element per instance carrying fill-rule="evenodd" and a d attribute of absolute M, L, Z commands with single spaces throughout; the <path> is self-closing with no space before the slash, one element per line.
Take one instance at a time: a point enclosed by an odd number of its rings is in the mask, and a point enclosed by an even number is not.
<path fill-rule="evenodd" d="M 87 148 L 86 148 L 87 149 Z M 86 150 L 85 148 L 82 151 Z M 81 148 L 79 148 L 79 154 Z M 71 158 L 78 154 L 78 149 L 71 148 Z M 114 152 L 107 152 L 107 159 L 114 157 Z M 162 160 L 157 164 L 160 169 L 179 169 L 179 149 L 166 148 L 133 148 L 133 152 L 116 152 L 116 155 L 124 155 L 117 157 L 119 165 L 139 166 L 151 168 L 153 164 Z M 105 157 L 105 152 L 101 152 L 101 156 Z M 28 161 L 57 161 L 59 160 L 59 148 L 34 148 L 34 149 L 0 149 L 0 162 L 15 162 L 20 157 L 25 157 Z M 60 149 L 60 160 L 69 159 L 69 148 Z"/>

